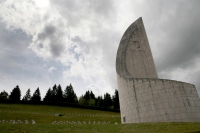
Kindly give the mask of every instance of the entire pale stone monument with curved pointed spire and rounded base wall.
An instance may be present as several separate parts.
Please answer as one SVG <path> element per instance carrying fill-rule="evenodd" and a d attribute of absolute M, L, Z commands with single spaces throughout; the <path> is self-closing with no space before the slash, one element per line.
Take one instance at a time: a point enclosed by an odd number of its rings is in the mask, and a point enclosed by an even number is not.
<path fill-rule="evenodd" d="M 116 71 L 122 123 L 200 122 L 195 86 L 158 78 L 142 18 L 122 36 Z"/>

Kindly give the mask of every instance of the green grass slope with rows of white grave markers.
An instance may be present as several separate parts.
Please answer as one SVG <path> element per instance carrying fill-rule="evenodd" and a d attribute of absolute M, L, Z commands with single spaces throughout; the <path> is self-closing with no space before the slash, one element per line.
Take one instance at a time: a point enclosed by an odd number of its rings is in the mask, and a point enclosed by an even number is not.
<path fill-rule="evenodd" d="M 0 104 L 0 133 L 200 133 L 200 123 L 121 124 L 119 115 L 58 106 Z"/>

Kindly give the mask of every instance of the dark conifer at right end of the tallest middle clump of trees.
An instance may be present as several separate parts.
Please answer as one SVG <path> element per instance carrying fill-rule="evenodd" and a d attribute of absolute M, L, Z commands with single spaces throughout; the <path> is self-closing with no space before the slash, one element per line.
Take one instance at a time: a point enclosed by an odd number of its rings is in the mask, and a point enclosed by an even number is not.
<path fill-rule="evenodd" d="M 76 93 L 71 84 L 65 88 L 64 101 L 68 103 L 78 103 Z"/>

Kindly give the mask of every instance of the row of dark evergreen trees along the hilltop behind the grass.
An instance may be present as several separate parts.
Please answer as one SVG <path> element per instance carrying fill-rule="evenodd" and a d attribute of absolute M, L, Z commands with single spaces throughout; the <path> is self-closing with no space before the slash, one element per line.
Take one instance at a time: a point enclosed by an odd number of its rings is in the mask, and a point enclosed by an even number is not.
<path fill-rule="evenodd" d="M 17 85 L 11 92 L 10 95 L 4 90 L 0 93 L 0 101 L 32 101 L 32 102 L 48 102 L 48 103 L 67 103 L 67 104 L 77 104 L 83 106 L 92 106 L 92 107 L 100 107 L 100 108 L 109 108 L 109 109 L 119 109 L 119 96 L 118 91 L 115 90 L 114 95 L 110 95 L 109 93 L 104 94 L 103 96 L 95 96 L 92 91 L 86 91 L 84 95 L 81 97 L 77 97 L 74 92 L 73 86 L 70 84 L 66 86 L 66 88 L 62 89 L 60 84 L 57 86 L 56 84 L 51 88 L 49 88 L 46 92 L 45 97 L 42 99 L 40 94 L 39 87 L 35 90 L 33 95 L 31 95 L 31 90 L 28 89 L 26 94 L 23 96 L 21 100 L 21 90 Z"/>

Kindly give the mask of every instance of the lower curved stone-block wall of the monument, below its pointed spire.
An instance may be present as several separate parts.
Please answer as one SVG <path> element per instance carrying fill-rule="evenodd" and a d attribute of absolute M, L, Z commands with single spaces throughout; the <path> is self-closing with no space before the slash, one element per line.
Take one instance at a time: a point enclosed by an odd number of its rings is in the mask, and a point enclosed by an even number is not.
<path fill-rule="evenodd" d="M 167 79 L 117 76 L 122 123 L 200 122 L 194 85 Z"/>

